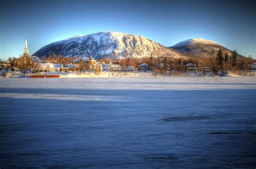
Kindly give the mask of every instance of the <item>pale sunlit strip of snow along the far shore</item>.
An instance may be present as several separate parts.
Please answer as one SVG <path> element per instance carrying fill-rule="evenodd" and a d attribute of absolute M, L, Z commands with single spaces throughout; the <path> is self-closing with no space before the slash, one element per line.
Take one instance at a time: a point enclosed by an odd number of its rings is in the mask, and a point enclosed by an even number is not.
<path fill-rule="evenodd" d="M 35 85 L 31 85 L 35 83 Z M 98 77 L 98 78 L 4 78 L 1 87 L 39 89 L 256 89 L 256 77 Z"/>

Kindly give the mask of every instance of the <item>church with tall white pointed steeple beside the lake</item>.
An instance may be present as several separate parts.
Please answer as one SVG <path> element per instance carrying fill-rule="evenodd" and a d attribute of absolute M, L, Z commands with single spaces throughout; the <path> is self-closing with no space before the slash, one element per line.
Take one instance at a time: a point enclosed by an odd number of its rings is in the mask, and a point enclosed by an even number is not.
<path fill-rule="evenodd" d="M 39 63 L 41 63 L 41 60 L 38 57 L 29 55 L 28 41 L 25 40 L 23 56 L 19 58 L 17 63 L 18 69 L 30 70 L 35 68 Z"/>

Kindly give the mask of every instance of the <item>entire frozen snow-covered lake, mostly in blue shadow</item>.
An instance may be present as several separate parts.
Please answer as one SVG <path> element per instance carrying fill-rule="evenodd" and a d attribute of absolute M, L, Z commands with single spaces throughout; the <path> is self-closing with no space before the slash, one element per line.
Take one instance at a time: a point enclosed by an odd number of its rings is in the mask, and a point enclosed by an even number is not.
<path fill-rule="evenodd" d="M 1 78 L 1 168 L 255 168 L 255 77 Z"/>

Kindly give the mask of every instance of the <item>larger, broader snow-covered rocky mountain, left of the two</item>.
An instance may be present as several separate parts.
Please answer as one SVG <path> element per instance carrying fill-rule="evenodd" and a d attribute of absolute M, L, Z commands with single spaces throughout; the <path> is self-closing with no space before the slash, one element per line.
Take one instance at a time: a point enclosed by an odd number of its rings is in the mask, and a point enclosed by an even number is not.
<path fill-rule="evenodd" d="M 109 57 L 118 59 L 123 57 L 185 57 L 183 53 L 170 48 L 165 48 L 138 35 L 120 32 L 98 32 L 91 35 L 79 35 L 69 39 L 53 42 L 33 53 L 33 56 L 47 57 L 50 54 L 66 57 L 89 56 L 93 58 Z"/>

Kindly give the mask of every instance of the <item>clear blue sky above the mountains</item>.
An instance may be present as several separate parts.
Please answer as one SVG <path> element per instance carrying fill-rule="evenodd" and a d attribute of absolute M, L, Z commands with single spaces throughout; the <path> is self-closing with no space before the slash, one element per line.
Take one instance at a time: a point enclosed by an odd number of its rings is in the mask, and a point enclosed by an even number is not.
<path fill-rule="evenodd" d="M 164 46 L 210 39 L 256 58 L 256 3 L 161 0 L 0 0 L 0 58 L 19 57 L 28 37 L 30 54 L 76 35 L 118 31 Z"/>

